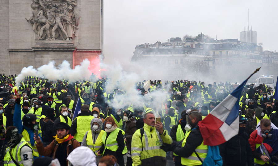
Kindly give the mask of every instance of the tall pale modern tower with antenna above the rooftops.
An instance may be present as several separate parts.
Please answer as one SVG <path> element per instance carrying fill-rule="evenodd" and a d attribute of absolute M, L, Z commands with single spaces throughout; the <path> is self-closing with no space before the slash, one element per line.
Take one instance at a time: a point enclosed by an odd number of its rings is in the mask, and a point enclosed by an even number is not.
<path fill-rule="evenodd" d="M 244 27 L 244 31 L 239 33 L 239 38 L 240 38 L 240 41 L 242 41 L 242 42 L 257 44 L 257 31 L 252 30 L 252 26 L 251 26 L 251 29 L 249 30 L 249 9 L 248 9 L 247 30 L 245 30 L 245 27 Z"/>

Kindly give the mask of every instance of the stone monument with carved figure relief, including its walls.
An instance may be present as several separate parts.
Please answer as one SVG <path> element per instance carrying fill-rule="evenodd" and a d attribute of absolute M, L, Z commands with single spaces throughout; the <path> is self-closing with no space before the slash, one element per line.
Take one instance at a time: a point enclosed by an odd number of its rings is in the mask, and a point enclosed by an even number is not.
<path fill-rule="evenodd" d="M 0 0 L 0 73 L 23 67 L 72 68 L 99 61 L 103 50 L 103 0 Z"/>

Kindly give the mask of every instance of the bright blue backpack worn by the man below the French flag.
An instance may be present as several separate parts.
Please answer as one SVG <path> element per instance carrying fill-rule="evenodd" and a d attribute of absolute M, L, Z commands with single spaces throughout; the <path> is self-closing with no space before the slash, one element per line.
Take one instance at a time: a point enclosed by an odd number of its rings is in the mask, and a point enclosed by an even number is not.
<path fill-rule="evenodd" d="M 218 146 L 208 146 L 207 157 L 202 161 L 200 156 L 194 151 L 196 156 L 202 162 L 203 166 L 222 166 L 223 160 L 220 156 L 219 147 Z"/>

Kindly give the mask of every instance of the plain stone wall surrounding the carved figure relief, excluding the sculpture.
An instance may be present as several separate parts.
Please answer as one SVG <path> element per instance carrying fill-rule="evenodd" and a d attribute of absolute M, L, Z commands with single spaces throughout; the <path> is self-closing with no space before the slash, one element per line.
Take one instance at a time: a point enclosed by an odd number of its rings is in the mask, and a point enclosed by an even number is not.
<path fill-rule="evenodd" d="M 73 39 L 73 45 L 60 48 L 59 44 L 53 45 L 54 49 L 36 47 L 37 35 L 32 30 L 32 26 L 26 21 L 32 14 L 30 7 L 32 0 L 0 0 L 0 73 L 19 74 L 23 67 L 48 64 L 49 61 L 55 61 L 56 65 L 62 61 L 69 61 L 73 67 L 73 51 L 91 51 L 98 54 L 103 48 L 103 18 L 102 3 L 103 0 L 77 0 L 77 6 L 74 8 L 80 16 L 80 24 L 76 30 L 76 37 Z M 65 42 L 68 43 L 68 42 Z M 50 46 L 51 47 L 51 46 Z M 91 53 L 85 57 L 95 56 Z M 78 58 L 84 58 L 79 56 Z M 77 59 L 76 59 L 77 60 Z M 79 60 L 78 60 L 79 61 Z M 80 60 L 82 61 L 82 60 Z"/>

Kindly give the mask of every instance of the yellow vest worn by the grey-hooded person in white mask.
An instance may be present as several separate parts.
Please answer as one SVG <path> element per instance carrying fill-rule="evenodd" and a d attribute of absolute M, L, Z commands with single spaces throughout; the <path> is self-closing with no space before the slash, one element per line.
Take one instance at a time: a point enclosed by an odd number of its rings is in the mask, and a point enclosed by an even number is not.
<path fill-rule="evenodd" d="M 97 151 L 99 148 L 101 148 L 103 142 L 102 142 L 102 136 L 105 133 L 105 131 L 100 130 L 99 136 L 95 140 L 95 144 L 93 143 L 93 137 L 92 137 L 92 130 L 89 130 L 87 133 L 86 141 L 87 141 L 87 147 L 90 148 L 92 151 L 97 154 Z"/>

